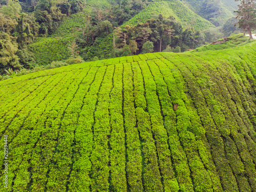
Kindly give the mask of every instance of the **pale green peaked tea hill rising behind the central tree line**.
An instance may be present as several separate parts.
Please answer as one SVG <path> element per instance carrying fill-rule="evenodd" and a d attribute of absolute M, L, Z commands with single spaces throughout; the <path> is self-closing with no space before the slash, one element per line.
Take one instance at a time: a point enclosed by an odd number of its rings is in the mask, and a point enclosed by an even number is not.
<path fill-rule="evenodd" d="M 195 30 L 204 30 L 210 27 L 215 27 L 210 22 L 200 17 L 193 11 L 191 11 L 181 1 L 156 1 L 146 7 L 135 17 L 130 19 L 125 25 L 135 25 L 138 22 L 145 22 L 147 19 L 154 17 L 154 15 L 162 14 L 165 18 L 174 16 L 177 21 L 181 22 L 184 27 L 194 27 Z M 193 25 L 194 21 L 194 25 Z"/>

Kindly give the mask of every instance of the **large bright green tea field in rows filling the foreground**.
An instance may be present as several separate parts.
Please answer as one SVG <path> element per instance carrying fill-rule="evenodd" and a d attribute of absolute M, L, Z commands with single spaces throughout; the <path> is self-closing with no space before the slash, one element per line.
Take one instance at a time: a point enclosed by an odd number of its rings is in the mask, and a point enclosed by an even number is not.
<path fill-rule="evenodd" d="M 256 191 L 255 53 L 254 41 L 0 81 L 0 191 Z"/>

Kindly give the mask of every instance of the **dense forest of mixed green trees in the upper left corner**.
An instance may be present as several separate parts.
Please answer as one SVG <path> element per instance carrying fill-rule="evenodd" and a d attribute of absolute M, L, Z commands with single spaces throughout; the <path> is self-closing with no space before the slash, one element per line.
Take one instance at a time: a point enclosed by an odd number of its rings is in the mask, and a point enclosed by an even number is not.
<path fill-rule="evenodd" d="M 2 2 L 0 9 L 0 73 L 3 74 L 4 70 L 9 68 L 20 70 L 35 67 L 35 58 L 37 59 L 38 55 L 34 50 L 37 50 L 38 47 L 33 45 L 32 49 L 28 49 L 28 45 L 31 46 L 37 36 L 52 34 L 65 16 L 82 10 L 84 3 L 76 0 L 20 2 L 10 0 Z M 52 45 L 52 41 L 50 45 Z M 40 43 L 39 47 L 41 48 Z M 52 49 L 55 48 L 56 46 Z M 38 51 L 40 51 L 40 56 L 44 57 L 48 55 L 49 50 L 38 49 Z M 61 56 L 56 55 L 54 50 L 51 50 L 50 54 L 54 55 L 54 60 L 68 58 L 63 49 L 61 52 Z M 42 58 L 41 63 L 47 64 L 46 60 Z"/>

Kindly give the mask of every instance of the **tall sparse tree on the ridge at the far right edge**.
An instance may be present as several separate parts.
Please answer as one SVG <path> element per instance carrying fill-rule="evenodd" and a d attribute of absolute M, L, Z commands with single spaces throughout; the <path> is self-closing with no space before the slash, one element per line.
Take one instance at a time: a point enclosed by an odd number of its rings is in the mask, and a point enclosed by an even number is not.
<path fill-rule="evenodd" d="M 255 0 L 235 0 L 240 2 L 236 18 L 238 19 L 239 28 L 249 33 L 250 39 L 253 39 L 251 31 L 256 29 L 256 9 Z M 235 24 L 236 26 L 236 24 Z"/>

